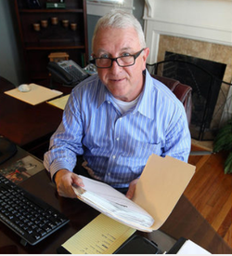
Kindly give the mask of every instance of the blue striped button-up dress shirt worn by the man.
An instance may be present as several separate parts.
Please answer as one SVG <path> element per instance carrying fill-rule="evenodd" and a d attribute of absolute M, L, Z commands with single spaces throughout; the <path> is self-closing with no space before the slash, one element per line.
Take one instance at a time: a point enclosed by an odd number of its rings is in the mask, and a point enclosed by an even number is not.
<path fill-rule="evenodd" d="M 72 171 L 84 155 L 95 177 L 115 188 L 138 178 L 148 156 L 171 155 L 187 162 L 190 133 L 183 104 L 146 71 L 137 104 L 121 114 L 97 75 L 72 89 L 62 122 L 45 153 L 45 168 Z"/>

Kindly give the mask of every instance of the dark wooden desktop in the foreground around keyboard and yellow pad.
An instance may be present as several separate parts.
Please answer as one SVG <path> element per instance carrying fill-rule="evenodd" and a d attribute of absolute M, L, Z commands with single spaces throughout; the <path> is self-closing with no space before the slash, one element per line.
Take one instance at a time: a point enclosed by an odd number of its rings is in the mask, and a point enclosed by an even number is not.
<path fill-rule="evenodd" d="M 18 154 L 0 168 L 10 165 L 25 155 L 29 154 L 19 149 Z M 33 195 L 42 198 L 45 202 L 63 212 L 71 222 L 56 233 L 46 237 L 38 245 L 28 245 L 26 247 L 20 245 L 19 236 L 11 232 L 9 228 L 0 222 L 0 253 L 56 253 L 60 245 L 99 214 L 97 210 L 92 209 L 78 199 L 58 196 L 56 188 L 50 182 L 50 178 L 45 170 L 32 176 L 27 181 L 21 182 L 20 185 Z M 161 226 L 159 232 L 172 236 L 174 239 L 184 236 L 212 253 L 232 253 L 232 249 L 226 245 L 222 237 L 217 235 L 211 225 L 204 220 L 198 210 L 190 204 L 184 195 L 176 204 L 167 221 Z M 157 233 L 148 234 L 148 238 L 152 240 Z M 157 238 L 154 239 L 159 245 Z"/>

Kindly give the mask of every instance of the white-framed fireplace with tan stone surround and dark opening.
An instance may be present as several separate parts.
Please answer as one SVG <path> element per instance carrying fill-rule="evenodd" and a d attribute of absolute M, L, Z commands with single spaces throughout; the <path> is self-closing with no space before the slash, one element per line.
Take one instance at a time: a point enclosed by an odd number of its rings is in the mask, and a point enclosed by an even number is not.
<path fill-rule="evenodd" d="M 146 43 L 150 49 L 148 63 L 167 61 L 169 58 L 192 61 L 205 69 L 207 65 L 210 73 L 227 83 L 213 82 L 213 89 L 210 86 L 206 89 L 207 75 L 200 74 L 203 81 L 197 81 L 196 86 L 196 71 L 187 74 L 194 74 L 192 81 L 186 80 L 186 77 L 179 75 L 180 72 L 186 75 L 183 65 L 175 67 L 175 74 L 174 71 L 170 74 L 171 62 L 165 64 L 166 67 L 162 64 L 162 75 L 172 76 L 193 88 L 196 112 L 192 113 L 190 130 L 192 138 L 200 141 L 213 140 L 217 129 L 232 116 L 232 87 L 228 86 L 232 80 L 232 28 L 228 24 L 228 20 L 232 21 L 231 13 L 224 12 L 224 17 L 217 16 L 215 22 L 216 11 L 222 7 L 228 9 L 231 5 L 231 1 L 219 0 L 146 0 L 144 20 Z M 208 109 L 203 120 L 204 132 L 199 135 L 205 105 Z"/>

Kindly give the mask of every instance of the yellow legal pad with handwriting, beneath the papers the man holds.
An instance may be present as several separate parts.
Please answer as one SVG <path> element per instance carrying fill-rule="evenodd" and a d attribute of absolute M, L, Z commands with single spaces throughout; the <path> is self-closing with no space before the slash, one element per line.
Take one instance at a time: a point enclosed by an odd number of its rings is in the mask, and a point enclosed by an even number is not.
<path fill-rule="evenodd" d="M 99 214 L 62 247 L 71 254 L 111 254 L 134 233 L 134 228 Z"/>

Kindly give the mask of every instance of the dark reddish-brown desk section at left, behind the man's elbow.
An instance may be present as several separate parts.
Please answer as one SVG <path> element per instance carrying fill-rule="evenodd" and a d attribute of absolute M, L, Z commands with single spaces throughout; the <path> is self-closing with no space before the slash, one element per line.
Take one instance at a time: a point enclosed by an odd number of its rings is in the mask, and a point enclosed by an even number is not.
<path fill-rule="evenodd" d="M 49 84 L 49 81 L 45 83 Z M 3 77 L 0 77 L 0 88 L 0 135 L 34 155 L 42 151 L 40 148 L 43 146 L 46 150 L 50 136 L 61 122 L 63 111 L 46 102 L 32 106 L 6 95 L 4 91 L 15 87 Z M 71 91 L 71 88 L 63 89 L 66 94 L 67 89 Z"/>

